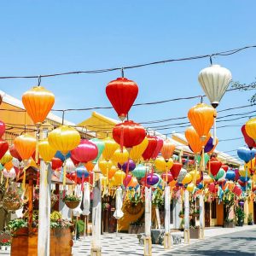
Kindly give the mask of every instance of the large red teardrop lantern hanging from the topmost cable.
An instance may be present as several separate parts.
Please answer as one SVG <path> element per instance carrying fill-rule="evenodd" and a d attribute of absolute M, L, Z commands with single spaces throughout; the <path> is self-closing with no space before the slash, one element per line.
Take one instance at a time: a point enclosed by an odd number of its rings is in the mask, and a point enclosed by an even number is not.
<path fill-rule="evenodd" d="M 119 78 L 108 83 L 106 94 L 119 119 L 123 121 L 137 98 L 138 86 L 131 80 Z"/>

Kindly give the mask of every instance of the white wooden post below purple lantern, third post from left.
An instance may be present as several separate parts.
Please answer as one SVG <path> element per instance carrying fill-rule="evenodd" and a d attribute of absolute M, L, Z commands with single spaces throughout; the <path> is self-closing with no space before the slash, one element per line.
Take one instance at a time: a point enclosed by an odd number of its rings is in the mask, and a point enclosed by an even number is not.
<path fill-rule="evenodd" d="M 144 238 L 144 255 L 152 255 L 151 240 L 151 188 L 145 187 L 145 238 Z"/>

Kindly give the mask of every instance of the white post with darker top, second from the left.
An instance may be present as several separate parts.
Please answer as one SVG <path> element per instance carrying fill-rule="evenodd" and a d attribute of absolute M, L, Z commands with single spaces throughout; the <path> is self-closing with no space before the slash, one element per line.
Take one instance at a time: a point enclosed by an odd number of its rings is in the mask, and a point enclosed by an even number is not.
<path fill-rule="evenodd" d="M 102 221 L 102 184 L 101 179 L 96 181 L 93 188 L 93 203 L 92 203 L 92 240 L 90 255 L 102 255 L 101 246 L 101 221 Z"/>

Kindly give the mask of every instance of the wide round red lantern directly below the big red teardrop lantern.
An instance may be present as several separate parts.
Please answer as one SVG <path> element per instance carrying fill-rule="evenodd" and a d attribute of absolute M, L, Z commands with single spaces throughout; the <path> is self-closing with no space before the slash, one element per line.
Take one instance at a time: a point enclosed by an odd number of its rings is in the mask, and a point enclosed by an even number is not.
<path fill-rule="evenodd" d="M 113 127 L 113 139 L 116 143 L 129 149 L 143 142 L 146 131 L 142 125 L 133 121 L 125 121 Z"/>

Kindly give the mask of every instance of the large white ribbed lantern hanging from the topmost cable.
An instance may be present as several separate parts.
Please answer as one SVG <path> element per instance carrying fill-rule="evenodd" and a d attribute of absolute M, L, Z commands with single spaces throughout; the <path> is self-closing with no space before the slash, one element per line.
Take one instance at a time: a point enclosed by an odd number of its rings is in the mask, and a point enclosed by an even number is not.
<path fill-rule="evenodd" d="M 217 108 L 218 103 L 227 90 L 232 75 L 230 70 L 219 65 L 212 65 L 201 70 L 198 81 L 202 90 L 206 93 L 213 108 Z"/>

